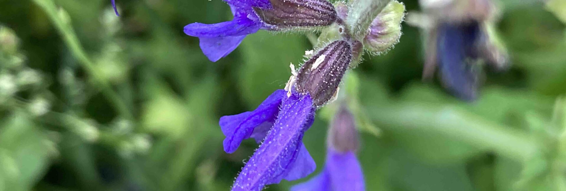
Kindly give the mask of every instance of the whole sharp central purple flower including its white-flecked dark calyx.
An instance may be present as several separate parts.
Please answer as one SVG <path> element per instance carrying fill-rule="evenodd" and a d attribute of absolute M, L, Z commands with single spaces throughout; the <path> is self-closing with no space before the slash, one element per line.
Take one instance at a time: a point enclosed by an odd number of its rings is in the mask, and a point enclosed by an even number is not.
<path fill-rule="evenodd" d="M 220 118 L 227 153 L 246 138 L 262 142 L 232 190 L 261 190 L 282 179 L 301 179 L 315 170 L 316 164 L 302 143 L 303 134 L 311 127 L 316 108 L 336 97 L 351 54 L 348 42 L 332 42 L 298 72 L 291 71 L 286 88 L 276 90 L 256 110 Z"/>

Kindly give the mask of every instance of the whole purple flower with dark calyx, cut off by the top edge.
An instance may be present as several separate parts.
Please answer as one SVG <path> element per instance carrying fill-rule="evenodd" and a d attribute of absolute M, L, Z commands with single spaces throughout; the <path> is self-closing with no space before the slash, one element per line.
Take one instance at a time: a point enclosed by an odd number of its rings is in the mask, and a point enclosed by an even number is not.
<path fill-rule="evenodd" d="M 284 31 L 331 25 L 336 11 L 326 0 L 225 0 L 234 19 L 216 24 L 185 26 L 188 36 L 199 37 L 200 49 L 212 62 L 226 57 L 247 34 L 259 29 Z"/>

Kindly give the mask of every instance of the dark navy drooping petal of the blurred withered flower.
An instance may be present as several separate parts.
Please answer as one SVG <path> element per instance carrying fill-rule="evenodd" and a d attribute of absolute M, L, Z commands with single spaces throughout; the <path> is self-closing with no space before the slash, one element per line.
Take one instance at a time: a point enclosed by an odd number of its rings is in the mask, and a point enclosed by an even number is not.
<path fill-rule="evenodd" d="M 457 97 L 474 100 L 477 97 L 478 77 L 474 71 L 477 59 L 475 44 L 482 31 L 479 23 L 440 24 L 437 55 L 442 82 Z"/>

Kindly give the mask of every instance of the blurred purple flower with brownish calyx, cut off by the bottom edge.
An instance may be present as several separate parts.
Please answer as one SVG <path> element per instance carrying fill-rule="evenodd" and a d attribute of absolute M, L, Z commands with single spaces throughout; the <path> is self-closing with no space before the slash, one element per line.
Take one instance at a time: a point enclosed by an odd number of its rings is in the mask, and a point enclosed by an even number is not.
<path fill-rule="evenodd" d="M 328 129 L 327 157 L 323 171 L 291 191 L 365 190 L 362 168 L 355 156 L 358 132 L 354 116 L 342 103 Z"/>

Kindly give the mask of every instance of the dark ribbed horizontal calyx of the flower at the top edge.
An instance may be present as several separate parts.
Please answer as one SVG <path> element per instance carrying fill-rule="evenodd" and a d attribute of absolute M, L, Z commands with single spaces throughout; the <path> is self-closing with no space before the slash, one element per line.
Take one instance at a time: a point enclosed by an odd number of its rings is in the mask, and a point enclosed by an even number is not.
<path fill-rule="evenodd" d="M 336 21 L 334 6 L 326 0 L 269 0 L 272 9 L 254 7 L 259 18 L 274 25 L 287 27 L 322 27 Z"/>

